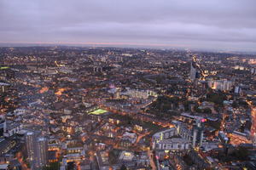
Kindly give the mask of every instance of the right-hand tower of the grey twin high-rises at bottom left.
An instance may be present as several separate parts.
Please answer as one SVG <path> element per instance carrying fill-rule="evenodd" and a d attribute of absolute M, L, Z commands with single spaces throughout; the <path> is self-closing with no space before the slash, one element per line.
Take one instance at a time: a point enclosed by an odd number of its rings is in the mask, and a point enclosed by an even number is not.
<path fill-rule="evenodd" d="M 44 137 L 37 139 L 37 167 L 43 167 L 48 162 L 48 140 Z"/>

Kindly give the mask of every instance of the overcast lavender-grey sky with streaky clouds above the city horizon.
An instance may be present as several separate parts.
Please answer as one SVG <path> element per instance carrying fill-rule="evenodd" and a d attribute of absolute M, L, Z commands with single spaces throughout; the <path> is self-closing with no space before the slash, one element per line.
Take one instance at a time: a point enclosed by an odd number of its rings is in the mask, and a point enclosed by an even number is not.
<path fill-rule="evenodd" d="M 255 0 L 0 0 L 0 42 L 256 51 Z"/>

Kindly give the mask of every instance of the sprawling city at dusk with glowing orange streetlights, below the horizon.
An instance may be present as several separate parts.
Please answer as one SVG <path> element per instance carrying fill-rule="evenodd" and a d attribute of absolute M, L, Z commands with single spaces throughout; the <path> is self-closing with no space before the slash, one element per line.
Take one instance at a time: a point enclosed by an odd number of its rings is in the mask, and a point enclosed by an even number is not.
<path fill-rule="evenodd" d="M 1 167 L 255 168 L 256 56 L 0 48 Z"/>

